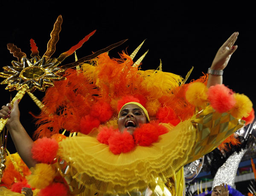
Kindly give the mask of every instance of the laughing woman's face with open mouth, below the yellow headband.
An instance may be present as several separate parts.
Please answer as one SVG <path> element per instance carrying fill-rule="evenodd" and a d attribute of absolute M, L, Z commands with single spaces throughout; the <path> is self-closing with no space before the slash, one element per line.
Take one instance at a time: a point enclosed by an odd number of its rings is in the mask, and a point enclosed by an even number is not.
<path fill-rule="evenodd" d="M 140 106 L 128 104 L 120 111 L 118 119 L 119 131 L 123 132 L 127 128 L 127 131 L 132 135 L 134 130 L 144 123 L 147 123 L 147 118 Z"/>

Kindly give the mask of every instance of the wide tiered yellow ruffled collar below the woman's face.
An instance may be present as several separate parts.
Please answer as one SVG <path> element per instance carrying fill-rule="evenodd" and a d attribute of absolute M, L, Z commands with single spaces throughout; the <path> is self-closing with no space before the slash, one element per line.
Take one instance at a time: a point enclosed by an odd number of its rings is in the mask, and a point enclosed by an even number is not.
<path fill-rule="evenodd" d="M 72 177 L 98 193 L 143 191 L 158 177 L 165 181 L 182 167 L 195 144 L 191 119 L 172 127 L 151 146 L 115 155 L 95 137 L 80 136 L 59 143 L 58 155 L 71 166 Z"/>

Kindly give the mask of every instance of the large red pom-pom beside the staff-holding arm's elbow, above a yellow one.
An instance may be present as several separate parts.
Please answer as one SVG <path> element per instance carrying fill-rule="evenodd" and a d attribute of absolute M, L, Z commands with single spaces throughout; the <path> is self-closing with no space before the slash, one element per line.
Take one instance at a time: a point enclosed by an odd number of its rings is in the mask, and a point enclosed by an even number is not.
<path fill-rule="evenodd" d="M 32 158 L 41 163 L 50 164 L 58 151 L 58 142 L 55 139 L 43 137 L 36 140 L 33 144 L 31 153 Z"/>

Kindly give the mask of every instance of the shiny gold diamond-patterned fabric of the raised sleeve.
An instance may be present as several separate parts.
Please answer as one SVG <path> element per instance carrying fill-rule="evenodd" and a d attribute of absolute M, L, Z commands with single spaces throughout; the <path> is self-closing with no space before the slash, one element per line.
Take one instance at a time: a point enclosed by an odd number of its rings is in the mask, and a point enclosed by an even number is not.
<path fill-rule="evenodd" d="M 187 163 L 213 151 L 245 123 L 244 120 L 238 120 L 227 112 L 222 114 L 216 112 L 210 105 L 198 112 L 196 119 L 191 122 L 198 130 L 198 139 Z"/>

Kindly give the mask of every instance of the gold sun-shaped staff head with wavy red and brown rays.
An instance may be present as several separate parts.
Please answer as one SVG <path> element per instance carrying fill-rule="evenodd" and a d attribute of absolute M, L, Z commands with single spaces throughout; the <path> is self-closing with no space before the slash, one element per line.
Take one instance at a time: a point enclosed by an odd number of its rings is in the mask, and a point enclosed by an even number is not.
<path fill-rule="evenodd" d="M 64 72 L 64 69 L 59 67 L 60 63 L 66 57 L 73 54 L 76 49 L 80 48 L 96 31 L 85 36 L 78 44 L 62 53 L 58 58 L 51 58 L 59 39 L 61 24 L 62 17 L 59 15 L 51 32 L 51 39 L 47 44 L 47 51 L 42 58 L 39 56 L 38 48 L 32 39 L 30 40 L 31 59 L 27 58 L 26 54 L 20 48 L 17 48 L 16 45 L 12 43 L 7 44 L 10 52 L 18 59 L 18 61 L 12 61 L 12 66 L 3 67 L 5 71 L 0 72 L 0 77 L 6 78 L 1 84 L 8 84 L 6 90 L 18 91 L 12 99 L 11 104 L 17 99 L 21 99 L 26 92 L 33 92 L 35 89 L 45 91 L 47 86 L 54 86 L 54 81 L 65 80 L 65 77 L 59 75 Z M 0 119 L 0 132 L 3 130 L 6 122 L 7 119 Z"/>

